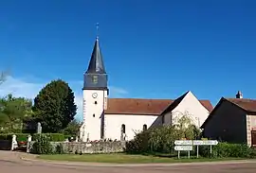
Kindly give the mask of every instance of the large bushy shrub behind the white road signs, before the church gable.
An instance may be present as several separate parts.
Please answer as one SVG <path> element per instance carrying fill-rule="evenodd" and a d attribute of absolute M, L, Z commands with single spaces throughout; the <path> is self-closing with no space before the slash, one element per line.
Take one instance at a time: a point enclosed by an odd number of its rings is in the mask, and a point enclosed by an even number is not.
<path fill-rule="evenodd" d="M 128 153 L 174 153 L 174 141 L 178 139 L 196 139 L 200 135 L 194 126 L 188 128 L 163 126 L 137 133 L 134 140 L 127 142 Z"/>

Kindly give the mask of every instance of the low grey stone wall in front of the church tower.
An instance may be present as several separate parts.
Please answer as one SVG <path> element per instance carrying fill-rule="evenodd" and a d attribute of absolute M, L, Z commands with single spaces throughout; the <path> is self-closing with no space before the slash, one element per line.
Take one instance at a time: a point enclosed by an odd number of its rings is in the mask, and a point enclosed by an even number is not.
<path fill-rule="evenodd" d="M 27 144 L 27 152 L 30 152 L 34 141 Z M 62 148 L 64 153 L 114 153 L 122 152 L 125 148 L 125 142 L 98 142 L 98 143 L 83 143 L 83 142 L 51 142 L 53 151 Z"/>

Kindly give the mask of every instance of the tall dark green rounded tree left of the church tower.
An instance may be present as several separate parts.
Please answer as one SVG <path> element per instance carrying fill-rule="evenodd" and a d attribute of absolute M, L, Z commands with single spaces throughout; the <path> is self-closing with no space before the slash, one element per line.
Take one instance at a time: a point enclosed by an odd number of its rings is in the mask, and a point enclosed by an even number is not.
<path fill-rule="evenodd" d="M 52 80 L 35 97 L 33 111 L 44 132 L 64 130 L 77 113 L 74 92 L 64 80 Z"/>

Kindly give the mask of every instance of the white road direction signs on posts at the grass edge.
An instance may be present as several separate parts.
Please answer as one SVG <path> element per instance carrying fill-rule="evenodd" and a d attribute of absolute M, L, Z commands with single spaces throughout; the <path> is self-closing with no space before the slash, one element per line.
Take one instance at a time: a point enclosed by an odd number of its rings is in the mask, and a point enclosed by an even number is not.
<path fill-rule="evenodd" d="M 174 149 L 178 151 L 178 159 L 180 158 L 180 151 L 188 151 L 188 157 L 190 158 L 190 151 L 193 146 L 196 146 L 196 157 L 199 157 L 199 146 L 210 146 L 211 147 L 218 145 L 217 140 L 176 140 L 174 141 Z"/>

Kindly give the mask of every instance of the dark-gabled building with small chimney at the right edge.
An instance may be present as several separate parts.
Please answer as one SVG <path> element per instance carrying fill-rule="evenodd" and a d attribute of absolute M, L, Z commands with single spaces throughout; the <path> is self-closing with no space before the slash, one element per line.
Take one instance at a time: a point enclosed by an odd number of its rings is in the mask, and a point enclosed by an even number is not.
<path fill-rule="evenodd" d="M 256 145 L 256 100 L 222 97 L 201 127 L 205 137 Z"/>

